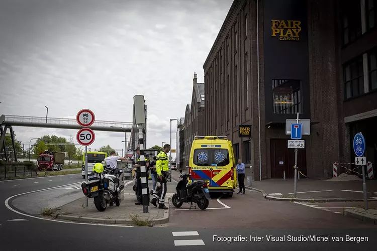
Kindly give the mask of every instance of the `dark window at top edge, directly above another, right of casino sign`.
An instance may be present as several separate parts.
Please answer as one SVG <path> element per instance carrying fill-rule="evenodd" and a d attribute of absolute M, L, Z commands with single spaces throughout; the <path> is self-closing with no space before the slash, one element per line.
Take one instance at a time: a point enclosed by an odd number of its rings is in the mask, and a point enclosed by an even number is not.
<path fill-rule="evenodd" d="M 343 45 L 355 41 L 362 35 L 360 0 L 343 0 Z"/>

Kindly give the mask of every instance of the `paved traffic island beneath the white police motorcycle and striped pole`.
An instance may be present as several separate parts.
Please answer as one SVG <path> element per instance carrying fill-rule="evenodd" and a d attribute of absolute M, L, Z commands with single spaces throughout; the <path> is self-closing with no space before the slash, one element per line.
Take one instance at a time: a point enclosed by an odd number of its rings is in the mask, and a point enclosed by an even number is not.
<path fill-rule="evenodd" d="M 135 205 L 135 202 L 135 194 L 125 195 L 119 207 L 115 204 L 113 207 L 108 205 L 104 212 L 100 212 L 93 199 L 88 199 L 88 207 L 85 207 L 85 197 L 82 197 L 57 208 L 56 217 L 71 221 L 137 226 L 164 224 L 169 221 L 169 209 L 158 209 L 150 205 L 149 212 L 144 213 L 143 206 Z M 168 203 L 166 205 L 168 206 Z"/>

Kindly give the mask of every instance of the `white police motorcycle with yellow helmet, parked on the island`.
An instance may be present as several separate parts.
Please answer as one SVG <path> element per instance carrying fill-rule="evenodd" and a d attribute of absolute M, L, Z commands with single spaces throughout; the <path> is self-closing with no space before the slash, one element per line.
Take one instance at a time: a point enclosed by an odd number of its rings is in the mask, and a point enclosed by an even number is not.
<path fill-rule="evenodd" d="M 103 161 L 93 166 L 92 173 L 88 174 L 88 181 L 81 183 L 81 189 L 86 197 L 93 198 L 97 210 L 103 212 L 107 204 L 120 206 L 124 180 L 123 170 L 112 170 Z"/>

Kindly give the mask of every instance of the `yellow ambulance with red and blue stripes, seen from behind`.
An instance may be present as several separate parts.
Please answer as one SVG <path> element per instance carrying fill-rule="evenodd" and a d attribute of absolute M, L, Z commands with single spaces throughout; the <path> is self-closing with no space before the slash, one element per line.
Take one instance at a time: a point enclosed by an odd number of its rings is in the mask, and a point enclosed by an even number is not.
<path fill-rule="evenodd" d="M 236 160 L 226 136 L 195 136 L 190 153 L 189 183 L 204 180 L 210 192 L 233 196 L 237 186 Z"/>

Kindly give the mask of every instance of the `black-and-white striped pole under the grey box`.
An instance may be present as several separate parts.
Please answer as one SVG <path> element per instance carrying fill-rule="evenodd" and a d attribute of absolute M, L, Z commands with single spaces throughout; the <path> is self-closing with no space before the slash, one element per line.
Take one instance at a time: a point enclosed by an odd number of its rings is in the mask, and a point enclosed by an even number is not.
<path fill-rule="evenodd" d="M 139 147 L 140 147 L 140 176 L 141 176 L 141 193 L 142 193 L 142 202 L 143 202 L 143 212 L 149 212 L 149 189 L 148 189 L 148 181 L 147 181 L 147 170 L 145 165 L 145 157 L 144 157 L 144 135 L 143 129 L 140 127 L 139 130 Z"/>

